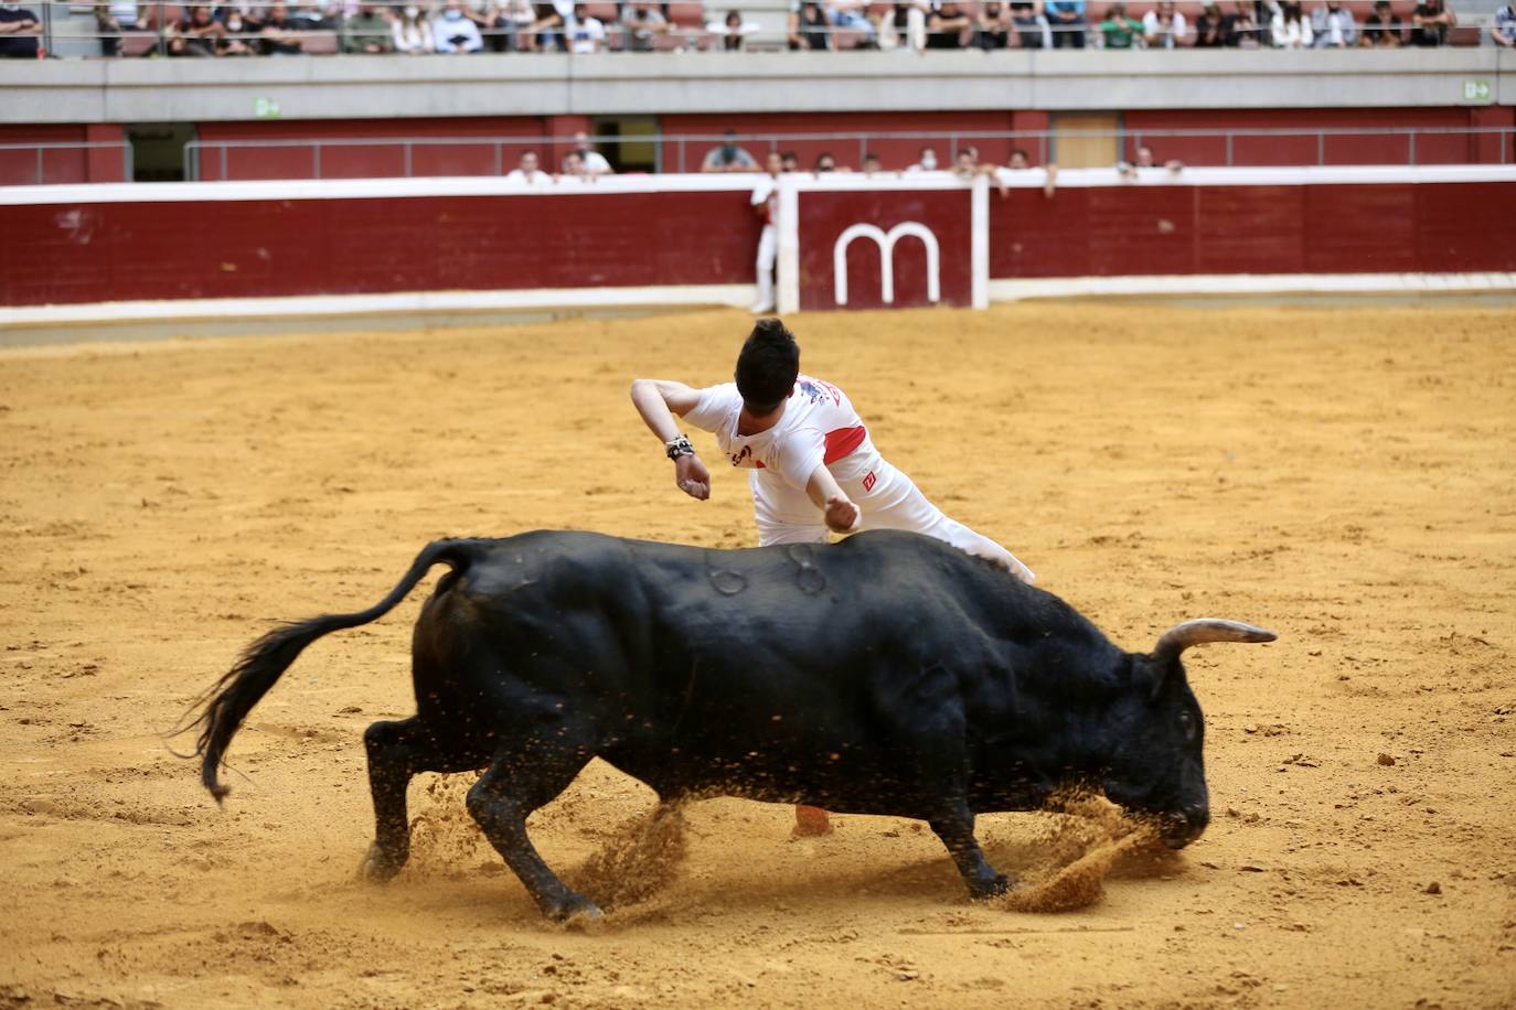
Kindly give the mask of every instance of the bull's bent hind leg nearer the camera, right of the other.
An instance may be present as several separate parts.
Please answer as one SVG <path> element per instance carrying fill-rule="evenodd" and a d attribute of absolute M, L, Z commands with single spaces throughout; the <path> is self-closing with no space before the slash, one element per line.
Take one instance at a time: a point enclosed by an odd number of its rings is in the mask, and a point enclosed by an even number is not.
<path fill-rule="evenodd" d="M 597 918 L 600 909 L 547 868 L 526 834 L 526 818 L 567 789 L 591 757 L 584 727 L 540 725 L 528 740 L 502 750 L 468 790 L 468 813 L 543 915 L 558 922 L 579 915 Z"/>

